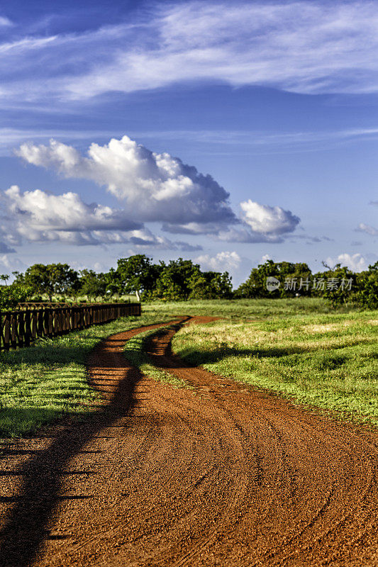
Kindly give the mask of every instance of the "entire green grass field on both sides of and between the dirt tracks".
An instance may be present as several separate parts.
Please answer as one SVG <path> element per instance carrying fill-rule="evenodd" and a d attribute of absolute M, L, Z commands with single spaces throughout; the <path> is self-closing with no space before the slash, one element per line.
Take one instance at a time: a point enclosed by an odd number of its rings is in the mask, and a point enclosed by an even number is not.
<path fill-rule="evenodd" d="M 2 352 L 0 437 L 28 434 L 62 415 L 89 415 L 100 398 L 87 383 L 84 363 L 96 343 L 186 314 L 224 318 L 186 327 L 174 338 L 174 349 L 195 364 L 378 423 L 377 312 L 344 311 L 333 312 L 326 302 L 312 298 L 158 302 L 143 305 L 140 318 Z M 152 378 L 186 386 L 150 364 L 143 352 L 149 335 L 128 342 L 128 359 Z"/>

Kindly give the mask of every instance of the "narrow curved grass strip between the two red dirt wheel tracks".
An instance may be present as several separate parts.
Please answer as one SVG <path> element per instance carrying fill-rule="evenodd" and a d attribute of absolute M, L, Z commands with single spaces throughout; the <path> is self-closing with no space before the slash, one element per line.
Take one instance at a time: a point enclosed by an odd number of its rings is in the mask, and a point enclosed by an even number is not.
<path fill-rule="evenodd" d="M 159 332 L 162 331 L 156 331 L 156 329 L 145 331 L 128 340 L 124 349 L 126 358 L 131 362 L 131 364 L 133 364 L 133 366 L 140 369 L 145 376 L 148 376 L 148 378 L 153 378 L 159 382 L 169 384 L 174 388 L 191 388 L 191 386 L 184 382 L 184 380 L 180 380 L 180 378 L 173 376 L 173 374 L 169 374 L 169 372 L 165 372 L 164 370 L 154 366 L 148 358 L 148 355 L 145 352 L 148 340 L 152 337 L 152 335 L 158 335 Z"/>

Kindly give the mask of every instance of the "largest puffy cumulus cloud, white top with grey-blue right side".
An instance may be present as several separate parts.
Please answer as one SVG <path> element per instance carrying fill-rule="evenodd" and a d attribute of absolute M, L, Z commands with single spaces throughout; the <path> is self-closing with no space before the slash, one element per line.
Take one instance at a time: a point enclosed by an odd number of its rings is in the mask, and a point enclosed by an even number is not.
<path fill-rule="evenodd" d="M 23 144 L 17 155 L 26 162 L 55 169 L 66 177 L 92 179 L 126 203 L 133 218 L 162 221 L 169 232 L 214 232 L 237 223 L 228 204 L 229 193 L 210 175 L 199 173 L 167 153 L 151 152 L 123 136 L 101 146 L 91 144 L 88 155 L 55 140 L 50 145 Z"/>

